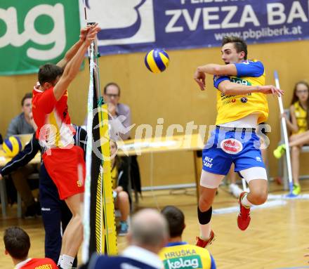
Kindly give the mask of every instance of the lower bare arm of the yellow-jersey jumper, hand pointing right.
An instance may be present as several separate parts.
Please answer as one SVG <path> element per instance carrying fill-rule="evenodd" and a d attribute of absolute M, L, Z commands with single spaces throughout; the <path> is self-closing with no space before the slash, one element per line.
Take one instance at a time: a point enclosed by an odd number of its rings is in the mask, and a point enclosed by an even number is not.
<path fill-rule="evenodd" d="M 246 86 L 228 80 L 222 81 L 218 85 L 218 90 L 228 96 L 242 96 L 246 93 L 264 93 L 264 94 L 273 94 L 277 96 L 281 96 L 284 94 L 284 91 L 272 85 Z"/>

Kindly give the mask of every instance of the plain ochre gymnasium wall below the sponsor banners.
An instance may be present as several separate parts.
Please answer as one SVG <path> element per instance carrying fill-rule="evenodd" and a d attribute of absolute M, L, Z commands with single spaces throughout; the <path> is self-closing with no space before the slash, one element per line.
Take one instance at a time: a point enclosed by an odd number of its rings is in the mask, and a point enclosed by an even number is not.
<path fill-rule="evenodd" d="M 289 106 L 294 84 L 298 80 L 309 79 L 309 41 L 295 41 L 279 44 L 258 44 L 249 46 L 249 58 L 261 60 L 265 65 L 266 83 L 274 84 L 273 71 L 280 75 L 281 88 L 284 89 L 284 107 Z M 104 86 L 116 81 L 121 86 L 121 102 L 131 107 L 132 122 L 136 125 L 155 126 L 158 118 L 164 118 L 164 131 L 170 124 L 188 122 L 195 124 L 214 124 L 216 119 L 216 91 L 212 78 L 206 77 L 206 91 L 199 90 L 193 73 L 198 65 L 222 63 L 219 48 L 201 48 L 185 51 L 169 51 L 169 69 L 162 74 L 150 73 L 143 63 L 145 53 L 128 55 L 108 55 L 100 58 L 100 81 Z M 69 109 L 73 123 L 82 124 L 86 116 L 88 92 L 88 63 L 79 73 L 69 89 Z M 32 91 L 36 75 L 0 77 L 0 132 L 4 135 L 11 118 L 20 112 L 22 96 Z M 269 135 L 268 158 L 270 176 L 277 176 L 277 161 L 272 150 L 280 138 L 279 107 L 277 98 L 268 98 L 272 127 Z M 133 129 L 133 135 L 134 136 Z M 192 152 L 159 153 L 153 155 L 153 178 L 150 171 L 150 155 L 138 157 L 143 185 L 166 185 L 194 182 L 194 163 Z M 308 157 L 301 158 L 302 164 Z M 305 171 L 303 167 L 302 173 Z M 150 183 L 150 178 L 153 183 Z"/>

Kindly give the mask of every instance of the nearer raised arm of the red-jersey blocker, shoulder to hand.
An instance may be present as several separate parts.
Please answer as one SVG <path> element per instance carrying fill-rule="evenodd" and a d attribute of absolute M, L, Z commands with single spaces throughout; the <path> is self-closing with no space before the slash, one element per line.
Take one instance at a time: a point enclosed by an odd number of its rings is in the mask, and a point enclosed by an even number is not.
<path fill-rule="evenodd" d="M 53 88 L 53 94 L 56 100 L 60 100 L 61 96 L 63 96 L 63 94 L 67 90 L 67 87 L 77 76 L 77 73 L 79 72 L 79 67 L 84 60 L 87 48 L 91 44 L 91 42 L 96 39 L 96 34 L 99 31 L 100 28 L 98 27 L 98 24 L 91 25 L 91 27 L 89 27 L 85 41 L 83 42 L 83 44 L 81 44 L 72 60 L 67 63 L 63 75 L 60 77 L 58 83 L 55 84 L 55 87 Z"/>

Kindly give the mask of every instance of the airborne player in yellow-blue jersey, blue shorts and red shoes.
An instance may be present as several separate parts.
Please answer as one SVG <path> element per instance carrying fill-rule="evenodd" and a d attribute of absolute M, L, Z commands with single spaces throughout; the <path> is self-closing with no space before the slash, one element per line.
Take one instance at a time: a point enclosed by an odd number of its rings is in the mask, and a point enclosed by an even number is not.
<path fill-rule="evenodd" d="M 213 241 L 211 205 L 218 185 L 232 163 L 235 171 L 249 184 L 250 190 L 239 195 L 237 224 L 240 230 L 246 230 L 250 223 L 250 206 L 266 201 L 267 174 L 255 129 L 268 119 L 265 95 L 279 96 L 283 93 L 275 86 L 265 86 L 264 66 L 258 60 L 247 60 L 247 46 L 242 39 L 225 37 L 221 53 L 225 65 L 208 64 L 197 67 L 195 72 L 195 81 L 202 90 L 206 74 L 213 74 L 213 85 L 218 89 L 216 129 L 202 154 L 203 170 L 197 207 L 199 247 L 206 247 Z"/>

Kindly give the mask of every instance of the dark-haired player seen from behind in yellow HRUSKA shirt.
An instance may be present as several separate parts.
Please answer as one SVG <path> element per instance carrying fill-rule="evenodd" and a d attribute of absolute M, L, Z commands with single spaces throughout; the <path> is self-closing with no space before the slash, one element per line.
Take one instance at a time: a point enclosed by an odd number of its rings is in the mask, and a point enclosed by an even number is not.
<path fill-rule="evenodd" d="M 159 252 L 164 269 L 201 268 L 216 269 L 216 263 L 208 250 L 182 241 L 185 216 L 175 206 L 165 206 L 161 211 L 169 225 L 169 243 Z"/>

